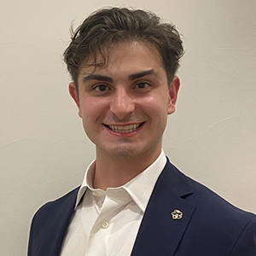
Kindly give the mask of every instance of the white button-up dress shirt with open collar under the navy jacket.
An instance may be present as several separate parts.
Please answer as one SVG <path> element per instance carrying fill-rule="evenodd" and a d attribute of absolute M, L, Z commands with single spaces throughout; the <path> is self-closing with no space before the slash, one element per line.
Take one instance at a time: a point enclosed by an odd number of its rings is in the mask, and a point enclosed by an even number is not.
<path fill-rule="evenodd" d="M 93 189 L 95 161 L 87 168 L 61 256 L 128 256 L 166 155 L 119 188 Z M 79 203 L 79 201 L 81 201 Z"/>

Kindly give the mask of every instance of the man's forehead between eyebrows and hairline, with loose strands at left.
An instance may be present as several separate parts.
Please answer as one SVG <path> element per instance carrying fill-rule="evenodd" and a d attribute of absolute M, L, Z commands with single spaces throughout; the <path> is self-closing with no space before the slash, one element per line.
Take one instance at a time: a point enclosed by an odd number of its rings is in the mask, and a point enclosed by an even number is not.
<path fill-rule="evenodd" d="M 89 73 L 136 73 L 163 69 L 160 54 L 151 44 L 125 42 L 102 49 L 102 54 L 90 56 L 81 65 L 79 75 Z"/>

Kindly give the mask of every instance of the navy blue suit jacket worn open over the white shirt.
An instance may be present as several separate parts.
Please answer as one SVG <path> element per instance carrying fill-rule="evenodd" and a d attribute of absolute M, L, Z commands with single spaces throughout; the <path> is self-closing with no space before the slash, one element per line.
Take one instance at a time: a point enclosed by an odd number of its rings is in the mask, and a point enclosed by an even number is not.
<path fill-rule="evenodd" d="M 78 191 L 38 210 L 32 219 L 28 256 L 59 255 Z M 172 218 L 175 209 L 183 212 L 183 218 Z M 256 216 L 230 205 L 167 161 L 131 255 L 256 256 Z"/>

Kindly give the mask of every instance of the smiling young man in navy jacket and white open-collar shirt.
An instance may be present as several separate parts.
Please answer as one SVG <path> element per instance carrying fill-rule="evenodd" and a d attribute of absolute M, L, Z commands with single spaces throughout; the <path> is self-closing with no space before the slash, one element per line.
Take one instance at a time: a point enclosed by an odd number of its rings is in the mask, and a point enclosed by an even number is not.
<path fill-rule="evenodd" d="M 32 221 L 29 256 L 256 255 L 256 218 L 172 166 L 162 150 L 175 111 L 182 41 L 142 10 L 102 9 L 64 56 L 70 95 L 96 160 Z"/>

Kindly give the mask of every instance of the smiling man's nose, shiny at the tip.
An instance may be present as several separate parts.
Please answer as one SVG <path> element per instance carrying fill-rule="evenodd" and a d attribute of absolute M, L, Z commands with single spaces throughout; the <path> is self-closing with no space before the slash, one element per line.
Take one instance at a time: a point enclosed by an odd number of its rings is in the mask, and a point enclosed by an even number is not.
<path fill-rule="evenodd" d="M 115 90 L 110 102 L 110 111 L 119 120 L 127 119 L 135 110 L 135 99 L 125 88 Z"/>

